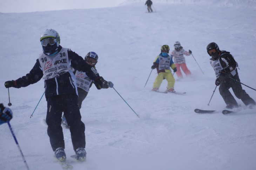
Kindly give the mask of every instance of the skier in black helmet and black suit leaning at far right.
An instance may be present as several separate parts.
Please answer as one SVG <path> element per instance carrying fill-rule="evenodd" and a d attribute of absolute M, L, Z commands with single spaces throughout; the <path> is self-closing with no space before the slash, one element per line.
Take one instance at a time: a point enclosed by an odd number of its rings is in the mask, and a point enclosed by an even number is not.
<path fill-rule="evenodd" d="M 207 46 L 207 53 L 211 56 L 210 64 L 217 77 L 215 85 L 220 85 L 219 91 L 224 102 L 227 104 L 226 108 L 232 109 L 238 107 L 235 98 L 229 91 L 230 88 L 232 88 L 236 97 L 241 99 L 246 106 L 249 104 L 255 105 L 255 101 L 242 89 L 237 72 L 238 65 L 230 52 L 221 51 L 215 42 L 211 42 Z"/>

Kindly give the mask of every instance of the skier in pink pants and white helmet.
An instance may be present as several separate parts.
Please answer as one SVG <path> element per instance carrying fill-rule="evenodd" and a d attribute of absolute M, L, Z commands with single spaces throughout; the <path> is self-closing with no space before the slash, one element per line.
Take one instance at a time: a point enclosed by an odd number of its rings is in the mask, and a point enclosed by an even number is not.
<path fill-rule="evenodd" d="M 185 57 L 184 57 L 184 55 L 188 56 L 188 55 L 191 55 L 191 53 L 192 53 L 191 50 L 188 50 L 188 52 L 184 50 L 179 41 L 176 41 L 174 43 L 174 50 L 171 52 L 170 56 L 174 59 L 175 66 L 177 68 L 176 75 L 179 79 L 183 78 L 181 69 L 186 75 L 191 75 L 191 72 L 187 68 Z"/>

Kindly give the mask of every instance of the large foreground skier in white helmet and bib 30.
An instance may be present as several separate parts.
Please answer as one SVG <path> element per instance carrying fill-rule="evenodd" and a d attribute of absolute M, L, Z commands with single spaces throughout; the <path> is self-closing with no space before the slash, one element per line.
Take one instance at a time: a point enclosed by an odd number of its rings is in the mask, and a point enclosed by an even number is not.
<path fill-rule="evenodd" d="M 85 124 L 81 121 L 78 107 L 76 80 L 72 69 L 85 72 L 94 81 L 97 89 L 102 88 L 103 78 L 85 60 L 72 50 L 62 48 L 60 36 L 54 29 L 42 32 L 40 42 L 43 53 L 39 55 L 32 70 L 17 80 L 6 81 L 5 87 L 21 88 L 45 80 L 47 101 L 47 134 L 55 156 L 59 161 L 66 160 L 65 143 L 61 127 L 61 115 L 64 113 L 70 125 L 70 134 L 76 158 L 86 159 Z"/>

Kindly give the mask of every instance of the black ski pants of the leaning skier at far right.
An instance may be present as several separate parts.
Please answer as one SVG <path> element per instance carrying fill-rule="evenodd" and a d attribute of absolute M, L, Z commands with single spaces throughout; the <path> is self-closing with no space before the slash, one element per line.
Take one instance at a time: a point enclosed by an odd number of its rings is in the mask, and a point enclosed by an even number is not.
<path fill-rule="evenodd" d="M 237 81 L 234 81 L 233 79 Z M 249 104 L 256 104 L 255 101 L 245 92 L 245 90 L 242 89 L 242 85 L 240 83 L 238 73 L 236 73 L 233 79 L 229 77 L 224 77 L 221 79 L 219 91 L 225 103 L 231 106 L 236 106 L 236 107 L 238 106 L 235 98 L 229 91 L 229 89 L 231 88 L 235 96 L 241 99 L 246 106 Z"/>

